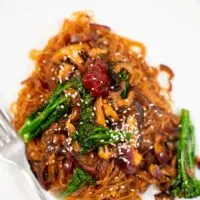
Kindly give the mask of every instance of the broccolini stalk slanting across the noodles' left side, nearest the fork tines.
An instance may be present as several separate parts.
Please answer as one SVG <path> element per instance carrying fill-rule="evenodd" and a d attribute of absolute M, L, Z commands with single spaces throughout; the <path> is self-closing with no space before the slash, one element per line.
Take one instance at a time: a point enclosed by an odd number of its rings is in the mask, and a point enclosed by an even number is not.
<path fill-rule="evenodd" d="M 33 112 L 19 130 L 19 134 L 25 142 L 35 138 L 68 112 L 71 99 L 69 96 L 65 96 L 64 91 L 70 87 L 80 92 L 84 91 L 80 77 L 72 77 L 68 82 L 59 84 L 48 102 Z"/>

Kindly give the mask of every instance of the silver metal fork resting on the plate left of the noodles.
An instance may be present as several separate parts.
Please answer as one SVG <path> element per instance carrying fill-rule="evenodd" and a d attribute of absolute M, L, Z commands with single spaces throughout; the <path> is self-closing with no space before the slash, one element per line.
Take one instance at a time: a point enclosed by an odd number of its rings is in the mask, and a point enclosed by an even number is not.
<path fill-rule="evenodd" d="M 20 169 L 41 200 L 47 200 L 43 189 L 30 170 L 25 145 L 11 125 L 11 117 L 0 109 L 0 158 Z"/>

